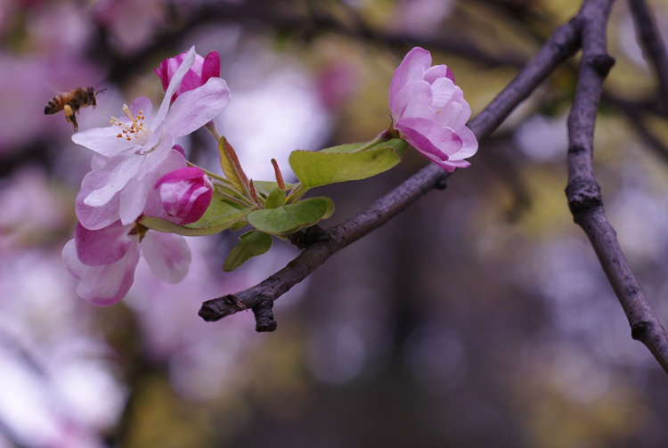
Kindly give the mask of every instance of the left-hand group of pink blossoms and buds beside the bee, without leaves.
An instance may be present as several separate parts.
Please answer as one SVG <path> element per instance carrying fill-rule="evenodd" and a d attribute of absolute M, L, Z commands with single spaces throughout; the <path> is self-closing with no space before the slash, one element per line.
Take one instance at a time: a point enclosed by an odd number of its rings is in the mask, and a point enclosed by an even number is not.
<path fill-rule="evenodd" d="M 219 60 L 187 53 L 160 64 L 165 97 L 153 113 L 151 100 L 139 97 L 125 117 L 111 125 L 74 134 L 72 141 L 94 151 L 92 170 L 77 195 L 79 224 L 63 249 L 77 293 L 95 305 L 125 297 L 140 255 L 151 272 L 168 282 L 183 279 L 190 250 L 183 236 L 147 229 L 142 216 L 176 224 L 197 221 L 211 201 L 213 185 L 197 167 L 188 167 L 175 139 L 206 125 L 230 102 L 230 91 L 217 75 Z M 203 75 L 203 68 L 206 75 Z"/>

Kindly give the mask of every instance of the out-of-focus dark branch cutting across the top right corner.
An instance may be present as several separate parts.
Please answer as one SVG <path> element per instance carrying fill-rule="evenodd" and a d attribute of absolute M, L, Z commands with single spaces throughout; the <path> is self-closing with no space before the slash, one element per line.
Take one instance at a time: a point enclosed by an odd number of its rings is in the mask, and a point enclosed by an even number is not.
<path fill-rule="evenodd" d="M 659 81 L 659 102 L 666 113 L 668 112 L 668 52 L 645 0 L 629 0 L 629 6 L 640 44 L 654 66 Z"/>

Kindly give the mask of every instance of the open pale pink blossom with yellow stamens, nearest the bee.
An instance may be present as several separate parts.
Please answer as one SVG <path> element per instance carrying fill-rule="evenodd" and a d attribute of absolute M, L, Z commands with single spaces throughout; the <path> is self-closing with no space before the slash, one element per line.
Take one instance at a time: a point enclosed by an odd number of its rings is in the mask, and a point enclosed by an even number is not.
<path fill-rule="evenodd" d="M 171 103 L 194 61 L 192 47 L 171 78 L 152 119 L 151 100 L 139 97 L 132 106 L 124 107 L 126 117 L 112 119 L 112 126 L 72 136 L 74 143 L 101 156 L 94 158 L 93 172 L 82 183 L 80 196 L 85 196 L 77 204 L 77 216 L 87 228 L 100 229 L 118 218 L 124 225 L 134 223 L 143 213 L 148 192 L 166 173 L 159 171 L 174 152 L 175 138 L 191 134 L 227 107 L 230 90 L 219 77 L 209 78 L 203 86 L 181 94 Z M 84 211 L 86 216 L 79 213 Z"/>

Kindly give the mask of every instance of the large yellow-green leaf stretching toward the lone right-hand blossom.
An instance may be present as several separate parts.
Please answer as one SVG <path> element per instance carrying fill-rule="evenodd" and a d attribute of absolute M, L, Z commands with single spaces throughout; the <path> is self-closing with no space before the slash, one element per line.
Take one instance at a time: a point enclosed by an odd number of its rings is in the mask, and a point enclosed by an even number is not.
<path fill-rule="evenodd" d="M 408 143 L 398 138 L 359 151 L 365 144 L 342 144 L 317 152 L 293 151 L 290 167 L 304 188 L 309 189 L 379 175 L 395 167 L 408 149 Z"/>

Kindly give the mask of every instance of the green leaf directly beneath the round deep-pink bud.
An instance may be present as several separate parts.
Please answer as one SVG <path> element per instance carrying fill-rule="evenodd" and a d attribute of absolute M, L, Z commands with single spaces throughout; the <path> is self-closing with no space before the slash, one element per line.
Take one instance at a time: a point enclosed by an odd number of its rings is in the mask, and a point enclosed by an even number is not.
<path fill-rule="evenodd" d="M 159 232 L 177 233 L 184 236 L 211 235 L 244 222 L 246 216 L 254 209 L 255 207 L 239 209 L 226 202 L 212 200 L 204 216 L 192 224 L 174 224 L 154 216 L 143 216 L 140 223 Z"/>

